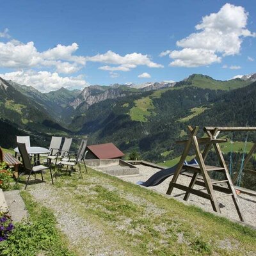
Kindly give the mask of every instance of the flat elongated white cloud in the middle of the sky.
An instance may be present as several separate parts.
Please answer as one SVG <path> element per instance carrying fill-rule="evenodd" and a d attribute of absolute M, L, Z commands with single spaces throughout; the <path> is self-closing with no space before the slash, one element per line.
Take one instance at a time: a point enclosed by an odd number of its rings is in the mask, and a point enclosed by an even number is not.
<path fill-rule="evenodd" d="M 147 54 L 143 55 L 137 52 L 126 54 L 125 56 L 120 56 L 119 54 L 113 51 L 108 51 L 104 54 L 97 54 L 92 57 L 86 57 L 86 61 L 118 65 L 117 67 L 110 67 L 107 65 L 99 68 L 102 70 L 110 70 L 110 71 L 115 71 L 115 70 L 129 71 L 131 70 L 131 68 L 136 68 L 139 65 L 145 65 L 150 68 L 163 67 L 163 65 L 157 64 L 151 61 Z"/>

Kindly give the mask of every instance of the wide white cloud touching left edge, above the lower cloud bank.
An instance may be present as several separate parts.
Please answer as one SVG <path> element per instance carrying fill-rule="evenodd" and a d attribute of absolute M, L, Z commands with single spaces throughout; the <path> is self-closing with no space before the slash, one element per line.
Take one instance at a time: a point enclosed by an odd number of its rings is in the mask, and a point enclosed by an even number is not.
<path fill-rule="evenodd" d="M 61 73 L 77 72 L 85 65 L 83 56 L 72 55 L 78 45 L 57 45 L 44 52 L 38 52 L 33 42 L 22 44 L 17 40 L 0 42 L 0 67 L 3 68 L 40 68 L 54 67 Z"/>

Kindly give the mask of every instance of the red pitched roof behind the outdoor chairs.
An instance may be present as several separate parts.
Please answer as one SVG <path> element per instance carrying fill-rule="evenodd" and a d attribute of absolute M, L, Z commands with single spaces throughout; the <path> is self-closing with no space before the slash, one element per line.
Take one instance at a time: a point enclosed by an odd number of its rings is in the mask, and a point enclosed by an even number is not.
<path fill-rule="evenodd" d="M 113 143 L 90 145 L 87 146 L 87 148 L 99 159 L 118 158 L 124 156 L 124 153 Z"/>

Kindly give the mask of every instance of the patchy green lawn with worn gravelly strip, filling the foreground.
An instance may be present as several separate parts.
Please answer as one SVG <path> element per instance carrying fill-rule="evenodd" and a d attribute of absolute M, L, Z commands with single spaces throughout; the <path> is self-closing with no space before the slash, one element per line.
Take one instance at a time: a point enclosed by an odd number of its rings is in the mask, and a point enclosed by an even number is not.
<path fill-rule="evenodd" d="M 79 179 L 78 173 L 61 175 L 53 186 L 49 173 L 44 176 L 45 183 L 31 184 L 22 192 L 31 222 L 22 224 L 22 232 L 18 228 L 15 239 L 4 248 L 12 252 L 24 248 L 23 243 L 30 243 L 28 250 L 25 254 L 3 254 L 3 251 L 0 255 L 169 256 L 256 252 L 256 231 L 252 228 L 184 205 L 170 196 L 90 168 L 83 179 Z M 74 229 L 78 230 L 78 236 L 63 227 L 63 216 L 68 217 L 68 223 L 77 225 Z M 17 237 L 21 235 L 24 239 L 19 243 Z"/>

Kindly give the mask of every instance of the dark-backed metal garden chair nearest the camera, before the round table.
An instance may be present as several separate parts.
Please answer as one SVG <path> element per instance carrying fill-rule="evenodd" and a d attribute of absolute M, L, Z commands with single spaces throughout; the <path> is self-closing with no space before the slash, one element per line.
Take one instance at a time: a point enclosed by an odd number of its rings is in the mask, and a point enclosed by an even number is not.
<path fill-rule="evenodd" d="M 18 148 L 19 148 L 20 156 L 22 157 L 23 166 L 24 166 L 25 170 L 27 170 L 29 172 L 25 189 L 28 186 L 29 178 L 30 178 L 32 173 L 33 174 L 36 174 L 38 172 L 41 173 L 42 182 L 44 182 L 44 177 L 43 177 L 42 171 L 46 170 L 46 169 L 49 169 L 50 173 L 51 173 L 51 179 L 52 179 L 51 165 L 49 167 L 44 166 L 44 165 L 35 165 L 36 164 L 36 162 L 35 162 L 34 165 L 32 166 L 30 157 L 28 155 L 28 151 L 26 149 L 26 144 L 25 143 L 18 143 Z M 19 180 L 20 175 L 21 175 L 21 173 L 19 174 L 17 181 Z M 52 179 L 52 184 L 53 184 L 53 179 Z"/>

